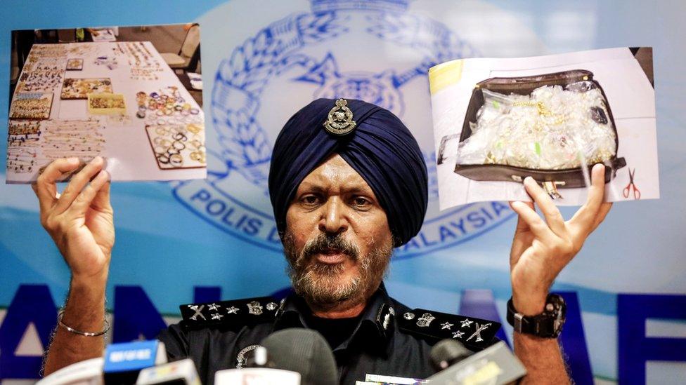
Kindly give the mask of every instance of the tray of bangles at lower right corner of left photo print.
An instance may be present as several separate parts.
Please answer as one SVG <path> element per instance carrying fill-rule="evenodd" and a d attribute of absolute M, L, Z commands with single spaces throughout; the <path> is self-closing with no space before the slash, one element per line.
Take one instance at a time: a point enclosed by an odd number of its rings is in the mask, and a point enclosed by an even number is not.
<path fill-rule="evenodd" d="M 157 166 L 162 170 L 207 166 L 204 128 L 193 123 L 145 126 Z"/>

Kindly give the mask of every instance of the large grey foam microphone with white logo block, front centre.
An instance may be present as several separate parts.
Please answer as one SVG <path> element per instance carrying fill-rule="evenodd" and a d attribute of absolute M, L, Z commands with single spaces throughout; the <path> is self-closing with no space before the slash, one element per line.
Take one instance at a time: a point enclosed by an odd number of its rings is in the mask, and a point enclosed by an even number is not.
<path fill-rule="evenodd" d="M 329 344 L 314 330 L 293 328 L 272 333 L 262 340 L 249 366 L 252 367 L 216 372 L 214 384 L 338 383 L 336 361 Z"/>

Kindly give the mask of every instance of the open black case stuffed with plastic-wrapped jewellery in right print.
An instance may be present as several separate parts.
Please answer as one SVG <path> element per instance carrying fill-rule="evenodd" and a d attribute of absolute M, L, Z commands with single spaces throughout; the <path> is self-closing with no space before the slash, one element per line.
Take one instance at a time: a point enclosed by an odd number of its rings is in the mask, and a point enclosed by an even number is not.
<path fill-rule="evenodd" d="M 481 181 L 531 176 L 555 188 L 584 187 L 582 168 L 605 163 L 609 182 L 626 166 L 616 156 L 618 146 L 609 102 L 592 72 L 491 78 L 472 90 L 455 173 Z"/>

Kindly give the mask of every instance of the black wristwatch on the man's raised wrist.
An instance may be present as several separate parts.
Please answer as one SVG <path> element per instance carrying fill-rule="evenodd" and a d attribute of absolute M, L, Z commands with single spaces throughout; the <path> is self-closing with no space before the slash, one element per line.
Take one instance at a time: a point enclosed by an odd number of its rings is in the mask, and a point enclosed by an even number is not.
<path fill-rule="evenodd" d="M 514 327 L 515 332 L 535 335 L 543 338 L 557 338 L 562 332 L 567 305 L 557 294 L 549 294 L 545 299 L 543 313 L 536 316 L 524 316 L 514 309 L 512 297 L 507 301 L 507 323 Z"/>

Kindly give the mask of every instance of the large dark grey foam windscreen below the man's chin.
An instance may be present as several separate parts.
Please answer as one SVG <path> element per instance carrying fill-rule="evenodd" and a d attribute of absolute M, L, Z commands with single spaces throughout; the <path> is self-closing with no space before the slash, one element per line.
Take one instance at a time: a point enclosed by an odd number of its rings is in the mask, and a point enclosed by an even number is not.
<path fill-rule="evenodd" d="M 293 328 L 268 335 L 261 345 L 271 366 L 300 373 L 300 384 L 337 384 L 336 360 L 328 342 L 314 330 Z"/>

